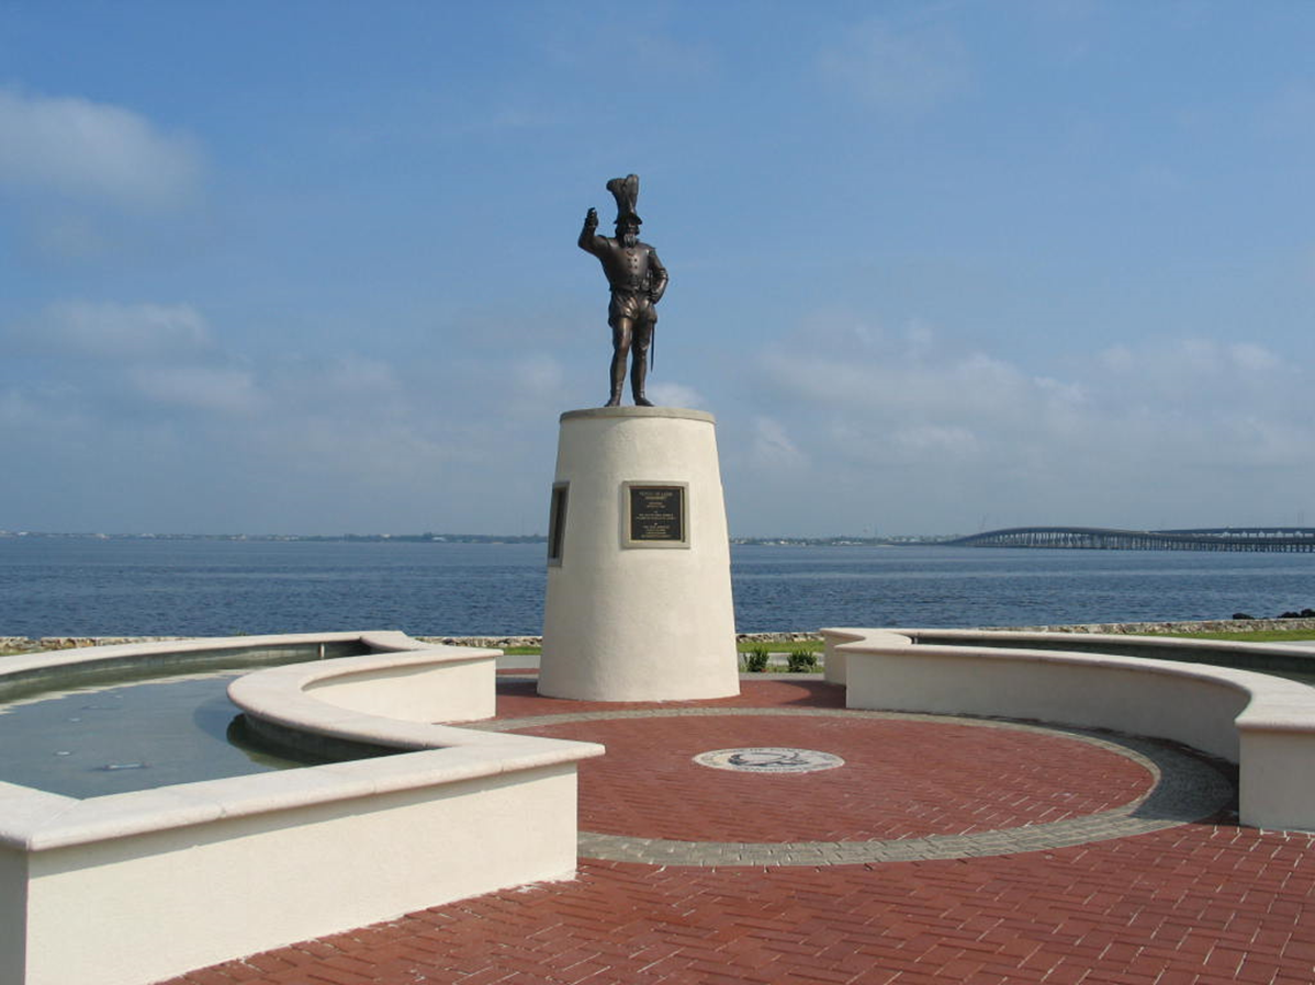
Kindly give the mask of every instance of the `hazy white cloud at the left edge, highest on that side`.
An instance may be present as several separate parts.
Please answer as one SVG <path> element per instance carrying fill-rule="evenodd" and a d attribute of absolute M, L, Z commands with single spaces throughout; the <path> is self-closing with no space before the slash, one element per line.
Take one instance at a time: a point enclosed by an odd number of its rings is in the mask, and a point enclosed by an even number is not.
<path fill-rule="evenodd" d="M 129 109 L 0 89 L 0 185 L 160 208 L 184 201 L 200 171 L 189 139 Z"/>

